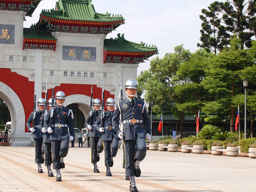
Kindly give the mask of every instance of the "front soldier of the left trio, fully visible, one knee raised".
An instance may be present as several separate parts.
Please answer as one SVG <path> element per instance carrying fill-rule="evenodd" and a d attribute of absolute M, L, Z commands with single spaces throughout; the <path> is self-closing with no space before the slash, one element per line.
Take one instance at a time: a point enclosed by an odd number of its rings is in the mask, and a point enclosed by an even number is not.
<path fill-rule="evenodd" d="M 73 113 L 71 109 L 65 108 L 65 94 L 58 91 L 55 95 L 57 107 L 53 110 L 52 127 L 50 127 L 51 111 L 49 110 L 45 125 L 47 132 L 50 133 L 52 144 L 52 161 L 53 169 L 56 169 L 56 181 L 61 181 L 60 169 L 65 168 L 63 158 L 68 154 L 69 139 L 74 139 Z M 70 133 L 70 137 L 69 137 Z"/>

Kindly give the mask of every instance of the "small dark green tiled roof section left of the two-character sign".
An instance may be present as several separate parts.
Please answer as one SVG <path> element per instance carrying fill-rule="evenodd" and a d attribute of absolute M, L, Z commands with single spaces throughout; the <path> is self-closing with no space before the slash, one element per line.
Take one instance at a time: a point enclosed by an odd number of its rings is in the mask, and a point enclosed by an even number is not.
<path fill-rule="evenodd" d="M 50 32 L 42 29 L 23 28 L 23 38 L 25 39 L 41 39 L 41 40 L 57 40 Z"/>

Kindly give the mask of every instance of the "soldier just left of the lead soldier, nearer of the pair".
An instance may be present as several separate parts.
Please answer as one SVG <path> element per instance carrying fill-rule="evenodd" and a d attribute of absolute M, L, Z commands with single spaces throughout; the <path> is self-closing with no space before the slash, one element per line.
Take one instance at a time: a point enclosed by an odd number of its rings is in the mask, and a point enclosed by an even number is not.
<path fill-rule="evenodd" d="M 98 118 L 95 123 L 97 130 L 102 133 L 101 139 L 103 141 L 103 147 L 105 150 L 105 166 L 107 168 L 106 176 L 112 176 L 110 167 L 113 166 L 113 157 L 116 157 L 118 151 L 118 135 L 112 126 L 114 105 L 114 99 L 108 98 L 106 100 L 106 107 L 108 110 L 105 112 L 104 127 L 100 127 L 101 118 Z M 110 145 L 112 145 L 112 150 L 110 149 Z"/>

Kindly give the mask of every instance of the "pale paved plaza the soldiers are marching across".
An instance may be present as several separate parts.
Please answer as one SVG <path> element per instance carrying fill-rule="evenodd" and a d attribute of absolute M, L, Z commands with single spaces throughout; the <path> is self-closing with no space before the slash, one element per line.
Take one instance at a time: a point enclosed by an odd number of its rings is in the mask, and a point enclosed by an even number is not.
<path fill-rule="evenodd" d="M 98 162 L 100 173 L 93 173 L 90 148 L 69 148 L 61 169 L 62 181 L 37 172 L 34 147 L 0 146 L 0 192 L 128 192 L 129 181 L 122 169 L 123 150 L 119 149 L 106 176 L 104 154 Z M 256 159 L 211 154 L 147 151 L 140 163 L 142 175 L 136 178 L 139 192 L 255 192 Z"/>

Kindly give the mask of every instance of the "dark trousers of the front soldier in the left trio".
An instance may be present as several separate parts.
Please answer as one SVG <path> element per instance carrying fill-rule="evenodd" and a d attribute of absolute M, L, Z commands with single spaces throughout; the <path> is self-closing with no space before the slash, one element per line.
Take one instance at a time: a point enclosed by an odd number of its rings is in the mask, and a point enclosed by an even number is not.
<path fill-rule="evenodd" d="M 51 140 L 52 143 L 52 166 L 53 169 L 60 169 L 60 158 L 67 157 L 69 139 L 60 141 Z"/>

